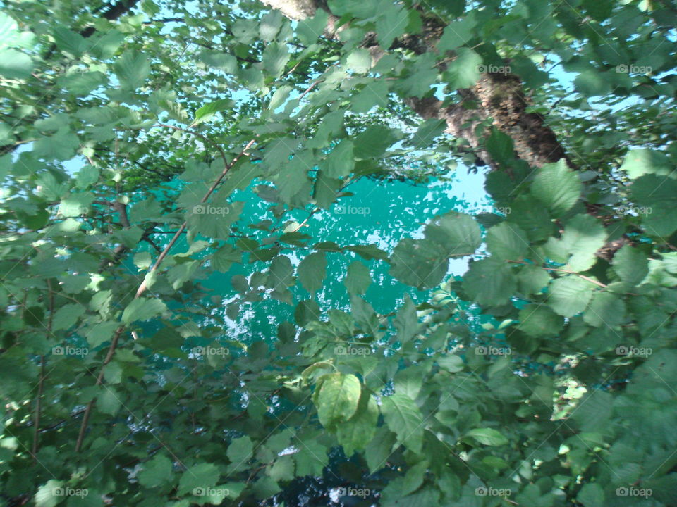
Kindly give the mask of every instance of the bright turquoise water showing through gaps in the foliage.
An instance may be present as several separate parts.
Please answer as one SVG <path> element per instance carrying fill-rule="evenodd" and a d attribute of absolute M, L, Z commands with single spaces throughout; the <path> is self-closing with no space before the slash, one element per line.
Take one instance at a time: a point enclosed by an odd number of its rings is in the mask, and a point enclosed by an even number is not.
<path fill-rule="evenodd" d="M 435 180 L 425 185 L 362 178 L 346 188 L 353 195 L 343 196 L 329 210 L 312 215 L 300 232 L 312 237 L 310 245 L 318 242 L 335 242 L 340 246 L 375 244 L 379 249 L 391 253 L 401 239 L 420 237 L 425 223 L 436 215 L 448 211 L 475 214 L 491 210 L 489 199 L 484 193 L 483 179 L 482 175 L 466 175 L 465 171 L 448 181 Z M 233 194 L 233 201 L 245 202 L 240 223 L 253 224 L 272 218 L 266 211 L 270 204 L 253 192 L 254 186 L 252 184 L 245 191 Z M 308 211 L 294 212 L 294 218 L 299 222 L 307 215 Z M 245 230 L 245 227 L 241 229 Z M 185 238 L 175 248 L 174 253 L 185 251 Z M 281 254 L 288 256 L 296 267 L 311 252 L 311 249 L 294 249 L 283 250 Z M 417 291 L 391 277 L 386 261 L 366 260 L 350 251 L 327 252 L 326 256 L 327 277 L 316 296 L 322 311 L 348 308 L 348 292 L 343 278 L 353 261 L 363 263 L 370 270 L 372 283 L 367 289 L 366 299 L 378 313 L 394 311 L 403 302 L 405 294 L 409 294 L 415 302 L 427 299 L 428 292 Z M 258 261 L 249 265 L 234 264 L 227 273 L 212 274 L 202 284 L 212 289 L 212 294 L 221 296 L 225 315 L 226 305 L 237 300 L 237 292 L 231 284 L 233 275 L 248 276 L 255 270 L 266 270 L 268 265 Z M 466 269 L 467 260 L 453 260 L 449 274 L 460 275 Z M 291 291 L 294 303 L 310 298 L 310 294 L 300 284 L 291 287 Z M 245 343 L 257 339 L 267 340 L 275 336 L 276 327 L 283 320 L 294 322 L 293 315 L 293 306 L 264 296 L 262 301 L 243 303 L 237 318 L 227 319 L 229 329 L 226 334 L 231 339 Z"/>

